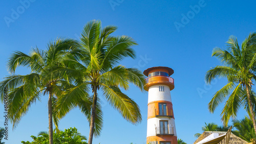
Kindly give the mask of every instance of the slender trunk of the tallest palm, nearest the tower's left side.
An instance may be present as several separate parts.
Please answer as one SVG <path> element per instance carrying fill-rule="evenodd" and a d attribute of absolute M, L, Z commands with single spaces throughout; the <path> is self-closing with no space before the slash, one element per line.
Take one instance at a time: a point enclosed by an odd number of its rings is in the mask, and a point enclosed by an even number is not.
<path fill-rule="evenodd" d="M 95 123 L 95 117 L 96 117 L 96 105 L 97 105 L 97 87 L 93 86 L 93 105 L 92 105 L 92 115 L 91 115 L 88 144 L 92 144 L 93 142 L 94 123 Z"/>

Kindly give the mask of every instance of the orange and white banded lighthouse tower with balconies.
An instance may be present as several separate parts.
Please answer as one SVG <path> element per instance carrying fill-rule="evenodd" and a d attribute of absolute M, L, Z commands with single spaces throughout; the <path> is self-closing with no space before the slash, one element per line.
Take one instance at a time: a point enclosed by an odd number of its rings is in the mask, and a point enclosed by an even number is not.
<path fill-rule="evenodd" d="M 144 89 L 148 91 L 146 143 L 177 144 L 173 103 L 170 90 L 174 79 L 169 77 L 174 70 L 157 66 L 144 70 L 147 76 Z"/>

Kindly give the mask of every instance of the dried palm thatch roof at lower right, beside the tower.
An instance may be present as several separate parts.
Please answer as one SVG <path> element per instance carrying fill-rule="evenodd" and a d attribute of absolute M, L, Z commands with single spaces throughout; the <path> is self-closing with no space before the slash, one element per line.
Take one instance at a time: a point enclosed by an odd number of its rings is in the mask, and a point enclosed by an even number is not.
<path fill-rule="evenodd" d="M 226 134 L 227 132 L 219 132 L 219 131 L 206 131 L 206 132 L 203 132 L 202 135 L 199 136 L 198 139 L 194 142 L 194 144 L 196 144 L 199 141 L 203 140 L 205 137 L 209 136 L 212 133 L 218 133 L 219 136 L 220 136 L 220 135 Z M 230 139 L 229 139 L 228 143 L 247 144 L 248 142 L 231 133 L 230 134 Z"/>

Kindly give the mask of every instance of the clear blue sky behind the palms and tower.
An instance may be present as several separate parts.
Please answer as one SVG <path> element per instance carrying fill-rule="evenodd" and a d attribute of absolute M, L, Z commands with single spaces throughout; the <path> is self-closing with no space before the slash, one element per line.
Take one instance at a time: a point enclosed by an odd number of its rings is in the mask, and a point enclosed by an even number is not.
<path fill-rule="evenodd" d="M 25 0 L 22 0 L 24 2 Z M 129 35 L 138 43 L 134 49 L 137 58 L 125 59 L 122 64 L 144 70 L 152 66 L 174 69 L 175 89 L 171 91 L 178 138 L 193 143 L 195 133 L 201 133 L 204 123 L 221 125 L 220 111 L 207 110 L 211 96 L 224 86 L 225 80 L 206 86 L 204 76 L 210 67 L 219 65 L 211 57 L 216 46 L 225 47 L 230 35 L 241 43 L 256 31 L 255 1 L 35 1 L 25 6 L 19 1 L 0 2 L 0 78 L 9 75 L 6 61 L 14 51 L 28 53 L 31 47 L 46 49 L 46 44 L 57 37 L 77 38 L 83 26 L 99 19 L 102 26 L 118 26 L 115 35 Z M 200 10 L 191 12 L 195 5 Z M 196 8 L 198 8 L 196 6 Z M 15 12 L 16 13 L 15 15 Z M 187 15 L 190 19 L 183 16 Z M 183 20 L 183 21 L 182 21 Z M 178 24 L 177 24 L 178 23 Z M 28 74 L 19 68 L 16 74 Z M 199 93 L 203 89 L 205 93 Z M 145 143 L 147 118 L 147 92 L 132 86 L 125 92 L 138 103 L 143 121 L 138 126 L 126 122 L 102 98 L 104 127 L 93 143 L 120 144 Z M 0 105 L 0 126 L 3 127 L 4 106 Z M 238 118 L 246 115 L 243 109 Z M 75 109 L 60 121 L 60 129 L 76 127 L 89 135 L 86 118 Z M 18 127 L 9 127 L 9 143 L 32 140 L 30 135 L 48 129 L 47 97 L 33 105 Z"/>

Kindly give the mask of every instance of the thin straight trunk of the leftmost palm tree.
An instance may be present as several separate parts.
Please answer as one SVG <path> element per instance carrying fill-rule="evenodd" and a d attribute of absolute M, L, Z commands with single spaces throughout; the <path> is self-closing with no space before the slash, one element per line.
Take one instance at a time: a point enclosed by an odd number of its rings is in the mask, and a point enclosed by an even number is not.
<path fill-rule="evenodd" d="M 48 117 L 49 117 L 49 144 L 53 144 L 52 94 L 51 94 L 51 92 L 49 92 L 49 99 L 48 99 Z"/>

